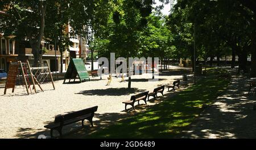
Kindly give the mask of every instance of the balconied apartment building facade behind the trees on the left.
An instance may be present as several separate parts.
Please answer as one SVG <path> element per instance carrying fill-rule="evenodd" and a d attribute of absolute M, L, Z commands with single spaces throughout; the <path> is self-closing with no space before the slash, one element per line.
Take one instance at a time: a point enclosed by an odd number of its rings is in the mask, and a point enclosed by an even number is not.
<path fill-rule="evenodd" d="M 0 17 L 7 15 L 5 11 L 0 11 Z M 69 25 L 66 32 L 71 32 Z M 34 62 L 32 48 L 28 40 L 15 41 L 15 36 L 5 36 L 0 33 L 0 69 L 8 70 L 10 62 L 17 60 Z M 63 72 L 67 70 L 70 58 L 86 58 L 86 41 L 79 36 L 71 38 L 72 45 L 69 51 L 63 53 L 63 62 L 60 62 L 60 51 L 55 48 L 54 41 L 48 42 L 42 40 L 40 49 L 46 50 L 42 55 L 43 61 L 48 61 L 52 71 L 60 71 L 60 64 L 63 63 Z"/>

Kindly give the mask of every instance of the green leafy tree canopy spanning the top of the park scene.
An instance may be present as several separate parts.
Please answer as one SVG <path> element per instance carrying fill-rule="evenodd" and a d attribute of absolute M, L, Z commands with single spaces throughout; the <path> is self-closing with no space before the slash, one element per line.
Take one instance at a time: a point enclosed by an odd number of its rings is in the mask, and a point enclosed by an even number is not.
<path fill-rule="evenodd" d="M 170 1 L 161 0 L 163 4 Z M 0 32 L 16 39 L 28 39 L 36 61 L 40 60 L 40 41 L 57 39 L 60 51 L 69 38 L 85 38 L 92 52 L 90 59 L 110 57 L 160 57 L 160 59 L 207 60 L 236 55 L 240 69 L 256 76 L 256 3 L 251 1 L 177 0 L 174 10 L 164 16 L 163 5 L 153 0 L 54 0 L 0 2 L 8 16 L 0 18 Z M 63 32 L 67 24 L 70 33 Z M 194 45 L 195 41 L 195 45 Z M 93 69 L 93 66 L 92 66 Z"/>

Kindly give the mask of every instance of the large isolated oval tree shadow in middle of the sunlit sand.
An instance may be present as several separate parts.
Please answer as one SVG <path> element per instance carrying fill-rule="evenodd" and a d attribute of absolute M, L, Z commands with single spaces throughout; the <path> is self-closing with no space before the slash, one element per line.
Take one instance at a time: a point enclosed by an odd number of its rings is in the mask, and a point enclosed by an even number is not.
<path fill-rule="evenodd" d="M 109 88 L 109 89 L 95 89 L 95 90 L 84 90 L 80 91 L 76 94 L 82 94 L 82 95 L 98 95 L 98 96 L 120 96 L 120 95 L 129 95 L 133 93 L 143 92 L 146 91 L 145 89 L 138 89 L 138 88 L 131 88 L 127 89 L 125 87 L 121 88 Z"/>

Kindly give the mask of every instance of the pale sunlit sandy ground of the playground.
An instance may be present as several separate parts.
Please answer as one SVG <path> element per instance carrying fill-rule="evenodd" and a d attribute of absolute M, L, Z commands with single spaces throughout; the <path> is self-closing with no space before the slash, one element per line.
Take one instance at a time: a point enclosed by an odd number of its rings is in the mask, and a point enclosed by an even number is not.
<path fill-rule="evenodd" d="M 177 70 L 178 69 L 178 70 Z M 17 86 L 14 93 L 11 89 L 3 95 L 4 88 L 0 87 L 0 138 L 37 138 L 44 134 L 49 136 L 49 130 L 44 128 L 58 114 L 98 106 L 97 115 L 106 113 L 126 114 L 122 101 L 130 99 L 131 95 L 145 90 L 152 91 L 160 85 L 172 84 L 176 78 L 182 78 L 181 68 L 171 68 L 171 71 L 159 74 L 159 81 L 150 82 L 150 76 L 133 76 L 131 89 L 127 90 L 128 82 L 120 82 L 114 78 L 106 86 L 107 76 L 91 78 L 90 82 L 63 84 L 56 81 L 56 90 L 52 84 L 43 84 L 44 92 L 26 95 L 26 89 Z M 127 79 L 127 78 L 126 78 Z M 78 81 L 78 80 L 77 80 Z M 165 91 L 166 93 L 166 91 Z M 155 103 L 148 103 L 154 105 Z"/>

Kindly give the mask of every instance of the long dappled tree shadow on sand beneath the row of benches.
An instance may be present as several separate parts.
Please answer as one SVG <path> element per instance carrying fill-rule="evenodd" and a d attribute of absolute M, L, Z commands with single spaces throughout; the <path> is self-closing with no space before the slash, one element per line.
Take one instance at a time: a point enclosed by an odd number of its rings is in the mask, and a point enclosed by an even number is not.
<path fill-rule="evenodd" d="M 164 97 L 160 96 L 157 98 L 151 98 L 147 103 L 160 103 L 165 101 L 166 99 L 170 98 L 172 95 L 177 93 L 168 93 L 165 94 Z M 120 113 L 104 113 L 104 114 L 96 114 L 93 118 L 94 127 L 90 126 L 89 121 L 84 122 L 85 126 L 81 126 L 81 122 L 76 122 L 69 124 L 63 127 L 63 136 L 59 137 L 59 133 L 57 131 L 53 131 L 53 138 L 86 138 L 88 135 L 92 134 L 93 132 L 102 130 L 112 124 L 118 123 L 119 120 L 129 118 L 130 116 L 137 115 L 137 113 L 141 113 L 146 111 L 150 105 L 145 105 L 144 102 L 141 102 L 140 105 L 135 103 L 135 110 L 131 107 L 127 107 L 127 111 L 125 111 L 125 106 L 123 106 L 123 111 Z M 72 113 L 73 111 L 66 112 Z M 57 115 L 57 114 L 56 114 Z M 44 124 L 48 124 L 53 122 L 54 117 L 50 118 L 52 121 L 44 122 Z M 47 136 L 50 138 L 50 131 L 46 128 L 41 129 L 34 129 L 34 128 L 19 128 L 16 133 L 16 138 L 38 138 L 39 135 Z"/>

